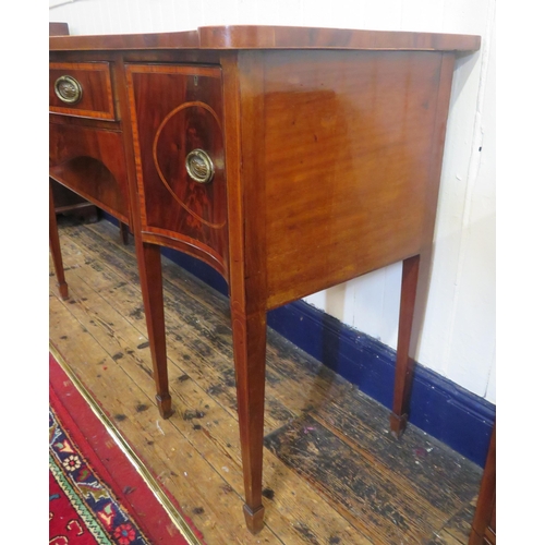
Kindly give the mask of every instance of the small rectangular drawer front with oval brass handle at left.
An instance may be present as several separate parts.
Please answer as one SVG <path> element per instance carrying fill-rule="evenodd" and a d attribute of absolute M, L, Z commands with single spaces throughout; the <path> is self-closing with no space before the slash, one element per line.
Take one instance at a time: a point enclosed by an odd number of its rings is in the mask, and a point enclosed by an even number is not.
<path fill-rule="evenodd" d="M 49 63 L 49 111 L 114 120 L 110 63 Z"/>

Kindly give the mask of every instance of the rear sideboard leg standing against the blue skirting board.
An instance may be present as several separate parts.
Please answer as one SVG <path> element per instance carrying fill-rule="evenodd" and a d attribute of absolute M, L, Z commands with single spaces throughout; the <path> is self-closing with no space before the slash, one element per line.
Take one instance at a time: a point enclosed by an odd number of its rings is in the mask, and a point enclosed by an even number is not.
<path fill-rule="evenodd" d="M 398 349 L 396 358 L 396 382 L 393 407 L 390 414 L 390 429 L 400 437 L 407 426 L 409 397 L 412 385 L 414 360 L 409 355 L 416 284 L 419 281 L 420 255 L 403 261 L 401 279 L 401 304 L 399 310 Z"/>

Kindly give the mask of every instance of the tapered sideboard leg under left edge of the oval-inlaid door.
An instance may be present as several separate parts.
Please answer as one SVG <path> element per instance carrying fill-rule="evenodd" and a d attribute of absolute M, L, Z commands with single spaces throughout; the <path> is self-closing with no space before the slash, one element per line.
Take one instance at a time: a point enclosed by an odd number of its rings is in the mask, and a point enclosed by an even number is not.
<path fill-rule="evenodd" d="M 162 304 L 161 251 L 156 244 L 135 241 L 136 256 L 146 314 L 149 350 L 154 365 L 157 405 L 164 419 L 172 413 L 167 370 L 167 341 L 165 336 L 165 308 Z"/>

